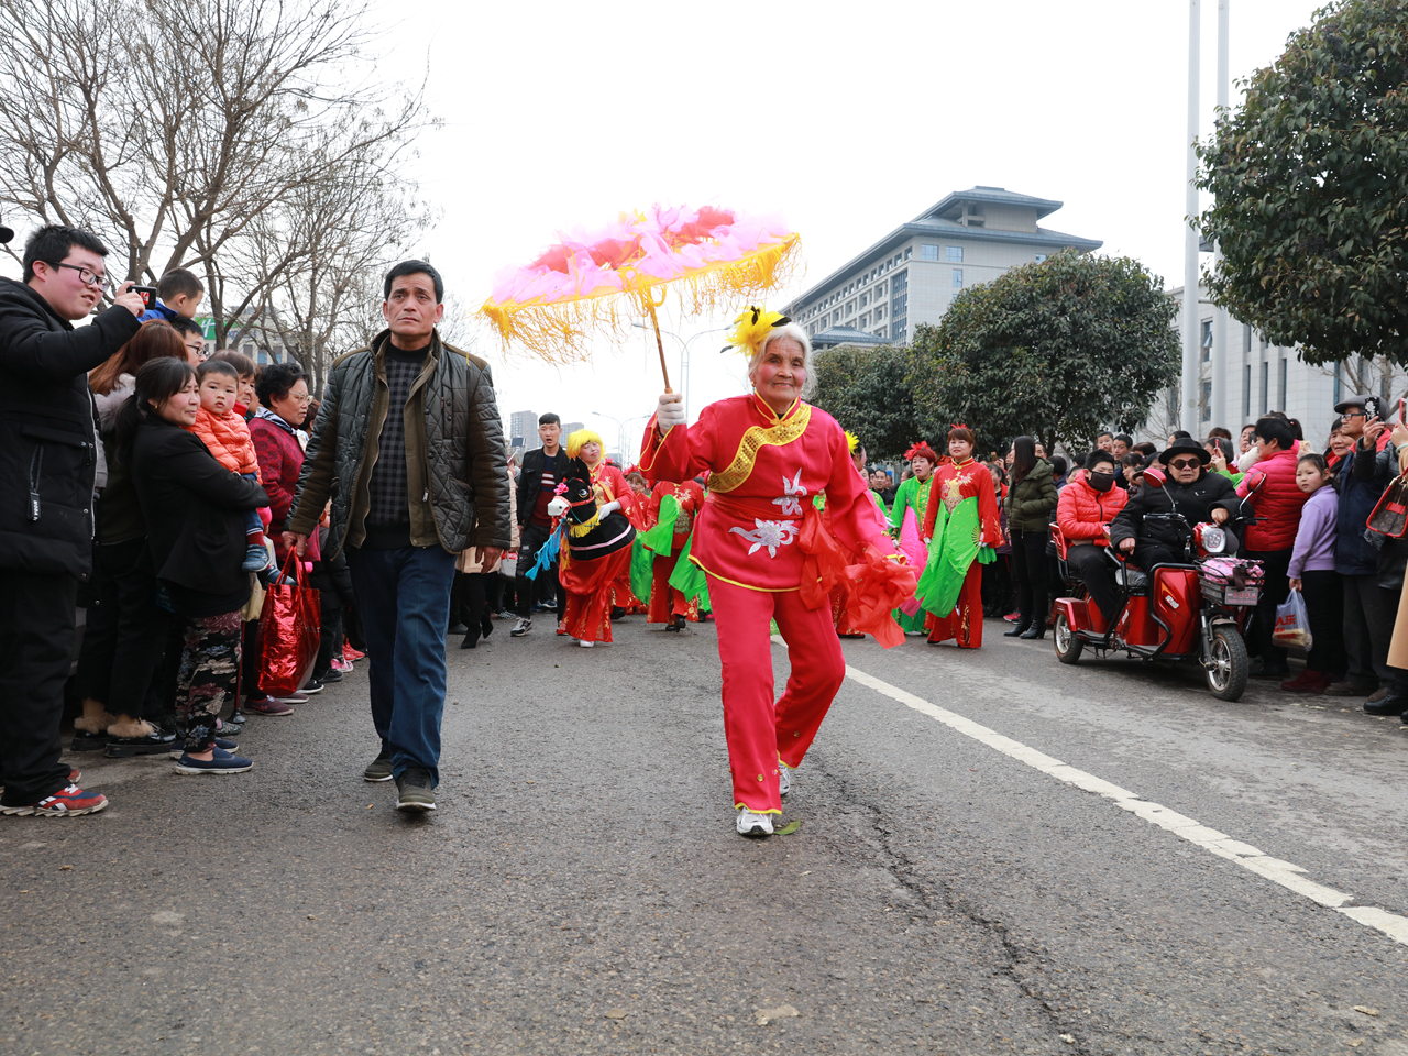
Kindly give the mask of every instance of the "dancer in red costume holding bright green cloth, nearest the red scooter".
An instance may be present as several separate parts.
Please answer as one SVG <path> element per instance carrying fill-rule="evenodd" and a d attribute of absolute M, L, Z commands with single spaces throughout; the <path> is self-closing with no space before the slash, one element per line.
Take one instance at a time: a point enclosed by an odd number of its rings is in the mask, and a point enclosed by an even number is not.
<path fill-rule="evenodd" d="M 1002 542 L 1002 527 L 993 476 L 973 460 L 973 434 L 966 425 L 949 429 L 949 459 L 934 470 L 922 535 L 929 548 L 921 590 L 929 610 L 929 645 L 952 638 L 959 649 L 981 648 L 983 565 Z"/>

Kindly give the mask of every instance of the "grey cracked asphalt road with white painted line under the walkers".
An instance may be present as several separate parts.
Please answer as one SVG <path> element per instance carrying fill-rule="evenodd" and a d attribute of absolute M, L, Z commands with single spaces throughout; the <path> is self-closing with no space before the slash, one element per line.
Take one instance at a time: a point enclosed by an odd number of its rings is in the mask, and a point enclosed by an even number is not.
<path fill-rule="evenodd" d="M 427 818 L 360 779 L 365 663 L 248 774 L 70 756 L 104 814 L 0 819 L 0 1053 L 1408 1056 L 1397 719 L 848 641 L 755 842 L 712 624 L 507 629 L 452 648 Z"/>

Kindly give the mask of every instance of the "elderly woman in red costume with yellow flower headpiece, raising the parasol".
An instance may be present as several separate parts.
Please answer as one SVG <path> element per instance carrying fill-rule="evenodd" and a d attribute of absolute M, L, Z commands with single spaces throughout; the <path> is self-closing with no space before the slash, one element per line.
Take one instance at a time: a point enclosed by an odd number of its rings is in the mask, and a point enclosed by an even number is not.
<path fill-rule="evenodd" d="M 898 645 L 890 610 L 914 593 L 879 528 L 841 427 L 801 396 L 811 367 L 807 332 L 750 308 L 729 344 L 746 352 L 753 391 L 704 408 L 686 429 L 680 397 L 665 394 L 646 429 L 641 470 L 653 480 L 708 473 L 690 560 L 708 577 L 724 667 L 724 731 L 736 829 L 772 835 L 796 769 L 845 679 L 828 591 L 850 586 L 850 625 Z M 829 524 L 815 498 L 825 494 Z M 828 531 L 829 528 L 829 531 Z M 848 565 L 845 552 L 863 555 Z M 791 676 L 773 697 L 770 624 L 787 642 Z"/>

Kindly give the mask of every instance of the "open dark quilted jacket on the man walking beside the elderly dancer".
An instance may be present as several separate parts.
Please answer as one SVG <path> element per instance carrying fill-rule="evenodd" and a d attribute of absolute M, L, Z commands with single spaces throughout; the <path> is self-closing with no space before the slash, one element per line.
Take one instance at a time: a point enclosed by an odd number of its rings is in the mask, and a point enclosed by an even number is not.
<path fill-rule="evenodd" d="M 367 483 L 390 404 L 383 351 L 390 337 L 384 329 L 370 348 L 334 360 L 322 389 L 287 525 L 310 535 L 331 497 L 325 560 L 366 539 Z M 493 376 L 483 359 L 441 344 L 439 334 L 411 383 L 406 463 L 413 546 L 508 548 L 513 482 Z"/>

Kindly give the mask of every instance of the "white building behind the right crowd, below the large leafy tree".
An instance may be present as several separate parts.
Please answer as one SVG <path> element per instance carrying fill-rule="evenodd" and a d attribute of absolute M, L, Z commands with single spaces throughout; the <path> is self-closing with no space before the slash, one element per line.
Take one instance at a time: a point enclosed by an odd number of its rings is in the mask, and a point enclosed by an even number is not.
<path fill-rule="evenodd" d="M 1271 345 L 1263 334 L 1232 317 L 1228 318 L 1226 377 L 1215 379 L 1211 376 L 1215 308 L 1208 303 L 1207 287 L 1200 286 L 1198 294 L 1201 425 L 1188 429 L 1197 432 L 1198 439 L 1205 438 L 1214 425 L 1222 425 L 1238 436 L 1243 425 L 1250 425 L 1267 411 L 1283 411 L 1300 421 L 1305 439 L 1321 449 L 1329 438 L 1335 404 L 1340 400 L 1349 396 L 1376 394 L 1393 401 L 1404 394 L 1408 379 L 1402 369 L 1383 359 L 1356 356 L 1338 366 L 1333 363 L 1312 366 L 1301 362 L 1294 348 Z M 1171 290 L 1169 296 L 1178 304 L 1180 315 L 1176 318 L 1181 318 L 1183 287 Z M 1232 421 L 1211 420 L 1212 386 L 1219 383 L 1226 386 L 1226 408 Z M 1174 386 L 1155 406 L 1145 429 L 1149 439 L 1162 442 L 1178 428 L 1174 424 L 1178 417 L 1178 387 Z"/>

